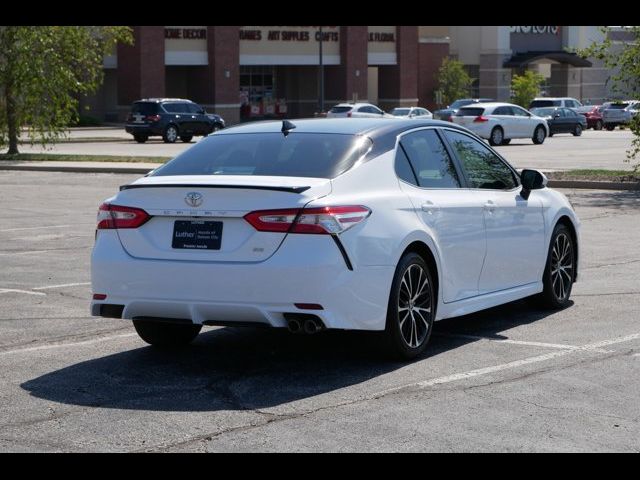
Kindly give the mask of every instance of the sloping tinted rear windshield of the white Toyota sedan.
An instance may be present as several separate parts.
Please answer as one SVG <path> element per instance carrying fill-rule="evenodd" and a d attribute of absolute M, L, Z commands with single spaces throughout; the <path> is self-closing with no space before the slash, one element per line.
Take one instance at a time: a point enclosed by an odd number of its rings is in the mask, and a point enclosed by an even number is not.
<path fill-rule="evenodd" d="M 371 148 L 367 137 L 322 133 L 212 135 L 153 172 L 335 178 Z"/>

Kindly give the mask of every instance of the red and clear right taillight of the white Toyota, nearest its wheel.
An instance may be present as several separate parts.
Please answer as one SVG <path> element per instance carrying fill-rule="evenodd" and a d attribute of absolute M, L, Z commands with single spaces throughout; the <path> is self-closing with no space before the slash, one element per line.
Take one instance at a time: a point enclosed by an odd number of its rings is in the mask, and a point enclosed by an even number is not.
<path fill-rule="evenodd" d="M 332 235 L 342 233 L 371 215 L 361 205 L 286 210 L 259 210 L 244 218 L 260 232 L 312 233 Z"/>

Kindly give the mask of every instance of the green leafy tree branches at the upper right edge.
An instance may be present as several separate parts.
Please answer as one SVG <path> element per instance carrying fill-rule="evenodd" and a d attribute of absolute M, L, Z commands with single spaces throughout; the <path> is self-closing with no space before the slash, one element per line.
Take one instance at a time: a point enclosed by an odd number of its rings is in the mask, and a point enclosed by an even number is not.
<path fill-rule="evenodd" d="M 612 27 L 600 27 L 603 39 L 592 42 L 583 49 L 573 51 L 584 58 L 596 58 L 604 62 L 604 66 L 611 72 L 609 82 L 614 93 L 624 94 L 632 98 L 640 96 L 640 26 L 625 27 L 634 41 L 614 45 L 609 33 Z M 632 118 L 629 125 L 634 135 L 631 148 L 627 150 L 626 162 L 635 160 L 640 153 L 640 115 Z M 634 171 L 640 171 L 640 163 L 634 166 Z"/>

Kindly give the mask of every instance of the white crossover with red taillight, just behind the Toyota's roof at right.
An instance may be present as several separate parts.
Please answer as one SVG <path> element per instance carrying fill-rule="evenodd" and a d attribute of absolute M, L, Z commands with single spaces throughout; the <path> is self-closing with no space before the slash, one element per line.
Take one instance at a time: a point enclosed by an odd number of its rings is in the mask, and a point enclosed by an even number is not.
<path fill-rule="evenodd" d="M 549 136 L 547 121 L 511 103 L 476 103 L 460 108 L 453 123 L 489 140 L 491 145 L 507 145 L 513 138 L 530 138 L 542 144 Z"/>

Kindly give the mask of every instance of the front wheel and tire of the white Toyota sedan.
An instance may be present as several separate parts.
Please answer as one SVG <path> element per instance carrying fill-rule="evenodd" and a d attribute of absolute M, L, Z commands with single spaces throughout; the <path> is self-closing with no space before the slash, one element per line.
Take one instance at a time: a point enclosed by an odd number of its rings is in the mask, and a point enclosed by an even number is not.
<path fill-rule="evenodd" d="M 543 307 L 559 310 L 570 305 L 575 259 L 573 236 L 566 225 L 559 223 L 551 235 L 542 277 L 544 289 L 540 294 L 540 303 Z"/>

